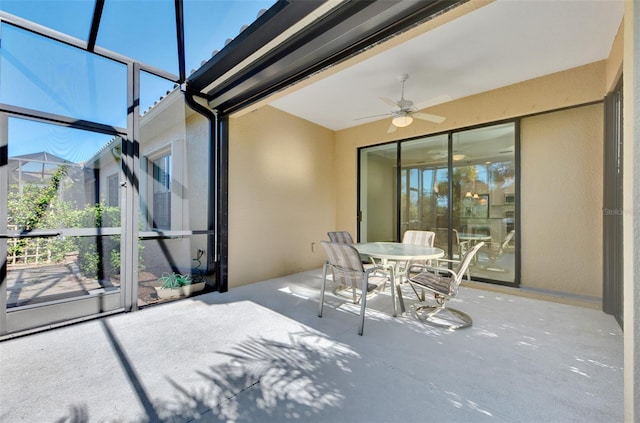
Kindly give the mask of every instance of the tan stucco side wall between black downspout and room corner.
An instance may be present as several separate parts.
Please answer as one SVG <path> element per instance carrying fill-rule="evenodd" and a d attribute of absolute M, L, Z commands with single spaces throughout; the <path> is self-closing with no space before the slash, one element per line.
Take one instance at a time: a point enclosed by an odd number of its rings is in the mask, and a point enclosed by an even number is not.
<path fill-rule="evenodd" d="M 229 287 L 322 266 L 318 243 L 336 226 L 333 131 L 267 106 L 231 119 L 230 139 Z"/>

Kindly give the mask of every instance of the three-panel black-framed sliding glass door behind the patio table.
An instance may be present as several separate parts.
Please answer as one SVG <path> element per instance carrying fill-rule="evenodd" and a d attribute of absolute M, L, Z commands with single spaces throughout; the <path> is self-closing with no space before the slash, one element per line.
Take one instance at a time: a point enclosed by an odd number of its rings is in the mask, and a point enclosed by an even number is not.
<path fill-rule="evenodd" d="M 516 133 L 510 122 L 362 148 L 360 241 L 428 230 L 453 259 L 484 242 L 472 276 L 516 284 Z"/>

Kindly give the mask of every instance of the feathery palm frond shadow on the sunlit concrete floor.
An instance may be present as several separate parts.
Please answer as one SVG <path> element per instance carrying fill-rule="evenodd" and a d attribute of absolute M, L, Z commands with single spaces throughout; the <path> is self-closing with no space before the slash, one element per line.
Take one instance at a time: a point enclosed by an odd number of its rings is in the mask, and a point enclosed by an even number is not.
<path fill-rule="evenodd" d="M 163 422 L 305 419 L 343 404 L 340 386 L 358 358 L 312 332 L 291 334 L 288 342 L 252 338 L 219 354 L 229 361 L 198 372 L 205 386 L 189 390 L 169 381 L 179 395 L 157 405 Z"/>

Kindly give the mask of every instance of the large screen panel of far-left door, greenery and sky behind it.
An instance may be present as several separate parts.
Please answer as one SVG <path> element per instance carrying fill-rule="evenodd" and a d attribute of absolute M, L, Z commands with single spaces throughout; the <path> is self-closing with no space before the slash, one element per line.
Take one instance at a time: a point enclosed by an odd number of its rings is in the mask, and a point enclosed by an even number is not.
<path fill-rule="evenodd" d="M 105 151 L 112 135 L 2 119 L 4 331 L 122 307 L 120 142 Z"/>

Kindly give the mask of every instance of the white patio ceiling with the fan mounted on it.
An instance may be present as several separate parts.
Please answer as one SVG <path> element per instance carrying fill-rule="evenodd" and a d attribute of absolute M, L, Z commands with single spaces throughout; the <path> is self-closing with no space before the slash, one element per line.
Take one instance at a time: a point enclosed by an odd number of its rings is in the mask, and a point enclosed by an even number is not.
<path fill-rule="evenodd" d="M 623 9 L 623 0 L 497 0 L 270 104 L 345 129 L 390 112 L 380 97 L 398 100 L 407 73 L 405 98 L 422 109 L 606 59 Z"/>

